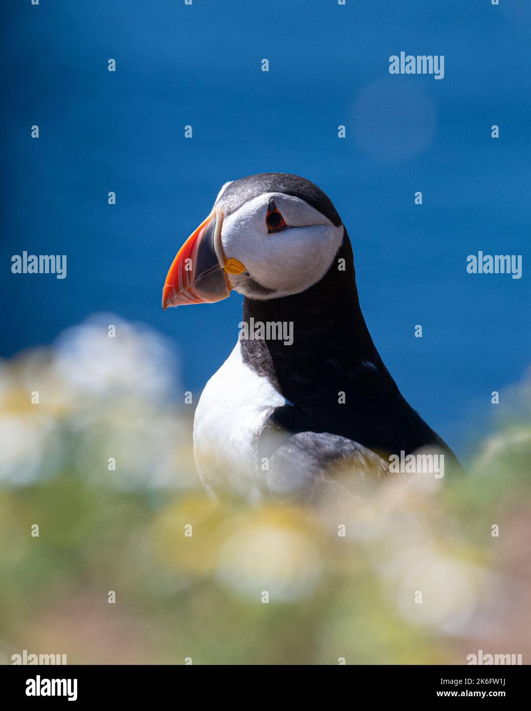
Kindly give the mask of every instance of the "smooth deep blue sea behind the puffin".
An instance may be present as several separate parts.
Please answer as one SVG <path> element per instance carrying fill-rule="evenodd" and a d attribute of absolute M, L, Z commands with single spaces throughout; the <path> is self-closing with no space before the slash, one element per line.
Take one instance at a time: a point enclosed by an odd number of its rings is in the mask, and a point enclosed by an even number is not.
<path fill-rule="evenodd" d="M 222 183 L 298 173 L 348 228 L 365 319 L 405 397 L 461 454 L 490 427 L 490 393 L 530 364 L 528 2 L 2 12 L 0 355 L 109 312 L 171 338 L 183 390 L 199 392 L 236 341 L 242 297 L 163 313 L 168 267 Z M 401 50 L 444 55 L 444 79 L 391 76 Z M 12 274 L 23 250 L 67 255 L 68 277 Z M 467 274 L 478 250 L 522 255 L 522 279 Z"/>

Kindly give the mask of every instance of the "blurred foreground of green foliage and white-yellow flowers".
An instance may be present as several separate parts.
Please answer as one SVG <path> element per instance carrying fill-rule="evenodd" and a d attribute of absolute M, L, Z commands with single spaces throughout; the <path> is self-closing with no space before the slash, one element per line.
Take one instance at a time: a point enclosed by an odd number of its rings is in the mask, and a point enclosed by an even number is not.
<path fill-rule="evenodd" d="M 525 660 L 521 413 L 478 444 L 464 478 L 419 475 L 311 509 L 214 505 L 193 470 L 193 413 L 166 400 L 178 386 L 154 341 L 93 322 L 2 370 L 4 663 L 23 649 L 70 664 L 463 664 L 480 648 Z M 80 343 L 100 359 L 85 353 L 90 373 L 70 362 Z"/>

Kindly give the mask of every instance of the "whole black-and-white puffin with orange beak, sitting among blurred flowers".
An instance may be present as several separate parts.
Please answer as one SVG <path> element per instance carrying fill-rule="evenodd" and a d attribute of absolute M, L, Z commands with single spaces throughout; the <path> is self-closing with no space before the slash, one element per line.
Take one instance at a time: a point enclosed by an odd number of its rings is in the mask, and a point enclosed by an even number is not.
<path fill-rule="evenodd" d="M 237 343 L 205 385 L 193 424 L 210 496 L 365 492 L 393 476 L 392 457 L 417 451 L 442 453 L 446 471 L 462 471 L 382 362 L 348 232 L 311 181 L 259 173 L 225 183 L 173 260 L 162 307 L 211 304 L 232 291 L 243 296 Z"/>

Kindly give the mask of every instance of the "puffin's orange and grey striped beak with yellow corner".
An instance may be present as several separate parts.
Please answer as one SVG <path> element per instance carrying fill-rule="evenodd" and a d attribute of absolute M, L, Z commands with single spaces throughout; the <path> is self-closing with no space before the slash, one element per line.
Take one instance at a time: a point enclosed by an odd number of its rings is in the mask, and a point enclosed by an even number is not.
<path fill-rule="evenodd" d="M 245 271 L 227 260 L 221 245 L 222 210 L 213 210 L 177 252 L 162 292 L 162 308 L 184 304 L 213 304 L 230 294 L 229 273 Z M 237 262 L 241 269 L 234 271 Z"/>

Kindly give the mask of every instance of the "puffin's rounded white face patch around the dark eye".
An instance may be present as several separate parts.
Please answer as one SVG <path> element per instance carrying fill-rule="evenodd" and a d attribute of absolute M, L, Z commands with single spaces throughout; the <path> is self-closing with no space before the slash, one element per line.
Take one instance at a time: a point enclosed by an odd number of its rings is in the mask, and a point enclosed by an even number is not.
<path fill-rule="evenodd" d="M 223 208 L 223 186 L 216 206 Z M 270 201 L 286 227 L 268 228 Z M 333 225 L 304 200 L 285 193 L 262 193 L 223 219 L 221 242 L 227 258 L 245 264 L 243 274 L 230 274 L 232 288 L 253 299 L 298 294 L 328 271 L 343 240 L 343 225 Z"/>

